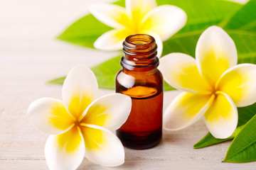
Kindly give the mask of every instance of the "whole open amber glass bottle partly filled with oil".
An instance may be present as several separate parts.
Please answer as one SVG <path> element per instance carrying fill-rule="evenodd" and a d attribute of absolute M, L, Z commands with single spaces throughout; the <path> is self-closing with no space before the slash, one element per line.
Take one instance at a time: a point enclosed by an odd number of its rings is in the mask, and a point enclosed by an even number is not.
<path fill-rule="evenodd" d="M 117 136 L 125 147 L 147 149 L 160 142 L 162 133 L 163 77 L 157 69 L 157 45 L 150 35 L 135 34 L 123 46 L 116 92 L 132 98 L 132 111 Z"/>

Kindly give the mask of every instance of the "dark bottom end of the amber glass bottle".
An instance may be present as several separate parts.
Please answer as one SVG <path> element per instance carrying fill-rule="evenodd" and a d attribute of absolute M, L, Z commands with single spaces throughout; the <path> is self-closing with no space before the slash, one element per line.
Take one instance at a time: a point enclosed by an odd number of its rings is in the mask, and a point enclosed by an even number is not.
<path fill-rule="evenodd" d="M 117 130 L 117 137 L 121 140 L 124 147 L 130 149 L 149 149 L 155 147 L 161 141 L 162 130 L 151 132 L 124 132 Z"/>

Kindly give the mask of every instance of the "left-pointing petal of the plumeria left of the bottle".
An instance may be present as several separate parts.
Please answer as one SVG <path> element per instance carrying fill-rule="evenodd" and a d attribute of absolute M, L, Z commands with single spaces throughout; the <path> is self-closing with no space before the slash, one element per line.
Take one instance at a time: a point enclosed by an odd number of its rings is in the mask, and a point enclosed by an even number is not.
<path fill-rule="evenodd" d="M 40 98 L 28 107 L 28 119 L 37 128 L 58 135 L 73 127 L 73 116 L 65 109 L 62 101 L 55 98 Z"/>

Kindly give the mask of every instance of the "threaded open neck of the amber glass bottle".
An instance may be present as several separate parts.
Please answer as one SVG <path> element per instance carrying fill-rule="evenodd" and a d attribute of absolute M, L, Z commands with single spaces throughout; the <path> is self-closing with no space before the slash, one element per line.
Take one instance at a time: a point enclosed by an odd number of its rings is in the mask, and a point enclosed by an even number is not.
<path fill-rule="evenodd" d="M 149 71 L 159 65 L 156 41 L 150 35 L 129 35 L 123 42 L 124 56 L 121 65 L 124 69 Z"/>

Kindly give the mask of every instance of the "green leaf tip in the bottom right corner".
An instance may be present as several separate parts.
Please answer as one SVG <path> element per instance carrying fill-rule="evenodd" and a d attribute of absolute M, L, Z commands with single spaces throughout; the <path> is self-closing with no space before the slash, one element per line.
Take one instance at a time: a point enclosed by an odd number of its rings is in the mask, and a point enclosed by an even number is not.
<path fill-rule="evenodd" d="M 245 124 L 235 137 L 223 162 L 256 161 L 256 115 Z"/>

